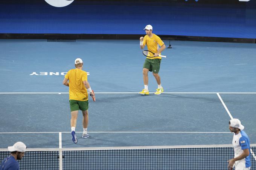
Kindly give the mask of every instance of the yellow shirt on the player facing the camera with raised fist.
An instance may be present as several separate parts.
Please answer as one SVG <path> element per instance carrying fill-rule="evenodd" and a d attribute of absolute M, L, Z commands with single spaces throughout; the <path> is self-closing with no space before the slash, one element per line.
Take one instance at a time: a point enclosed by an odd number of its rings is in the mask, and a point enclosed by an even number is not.
<path fill-rule="evenodd" d="M 165 44 L 165 43 L 163 43 L 161 38 L 158 37 L 155 34 L 153 34 L 152 38 L 149 38 L 148 35 L 144 36 L 143 45 L 147 45 L 148 50 L 152 51 L 153 53 L 157 53 L 157 50 L 159 49 L 158 45 L 162 46 L 163 44 Z M 161 53 L 159 55 L 161 55 Z M 152 57 L 152 56 L 150 56 L 150 57 Z M 148 59 L 162 59 L 162 57 L 159 57 L 159 56 L 158 57 L 152 57 L 152 58 L 147 57 L 147 58 Z"/>

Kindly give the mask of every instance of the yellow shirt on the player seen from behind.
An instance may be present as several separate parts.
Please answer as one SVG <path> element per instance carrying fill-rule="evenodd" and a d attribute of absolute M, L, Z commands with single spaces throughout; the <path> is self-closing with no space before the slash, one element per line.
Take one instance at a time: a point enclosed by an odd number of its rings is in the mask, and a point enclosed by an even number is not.
<path fill-rule="evenodd" d="M 65 75 L 69 80 L 69 99 L 87 101 L 88 93 L 83 81 L 87 81 L 87 72 L 81 69 L 71 69 Z"/>

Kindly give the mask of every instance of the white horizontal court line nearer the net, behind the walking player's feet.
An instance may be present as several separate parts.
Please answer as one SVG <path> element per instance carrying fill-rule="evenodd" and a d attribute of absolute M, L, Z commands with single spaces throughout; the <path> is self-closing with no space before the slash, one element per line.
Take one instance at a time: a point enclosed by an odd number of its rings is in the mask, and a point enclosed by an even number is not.
<path fill-rule="evenodd" d="M 71 132 L 0 132 L 0 134 L 38 134 L 38 133 L 71 133 Z M 76 133 L 82 133 L 82 132 L 76 132 Z M 114 132 L 114 131 L 110 131 L 110 132 L 90 132 L 88 131 L 88 133 L 231 133 L 231 132 L 166 132 L 166 131 L 160 131 L 160 132 L 157 132 L 157 131 L 151 131 L 151 132 L 148 132 L 148 131 L 143 131 L 143 132 L 126 132 L 126 131 L 123 131 L 123 132 Z"/>

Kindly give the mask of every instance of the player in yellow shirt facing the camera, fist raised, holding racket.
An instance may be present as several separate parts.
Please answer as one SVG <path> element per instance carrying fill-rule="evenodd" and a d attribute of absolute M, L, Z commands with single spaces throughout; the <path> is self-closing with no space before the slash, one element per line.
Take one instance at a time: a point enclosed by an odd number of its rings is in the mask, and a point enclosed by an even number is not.
<path fill-rule="evenodd" d="M 151 25 L 147 25 L 144 30 L 146 32 L 146 35 L 144 37 L 140 37 L 140 48 L 143 49 L 147 45 L 148 50 L 152 51 L 155 54 L 154 57 L 146 57 L 145 59 L 143 65 L 144 89 L 139 92 L 139 94 L 149 95 L 148 71 L 151 71 L 158 84 L 155 95 L 160 95 L 163 92 L 163 87 L 161 85 L 161 78 L 158 75 L 158 72 L 160 70 L 160 63 L 162 57 L 159 57 L 158 55 L 161 55 L 161 52 L 165 50 L 165 44 L 157 35 L 152 33 L 153 27 Z M 159 48 L 158 45 L 160 45 L 161 48 Z"/>

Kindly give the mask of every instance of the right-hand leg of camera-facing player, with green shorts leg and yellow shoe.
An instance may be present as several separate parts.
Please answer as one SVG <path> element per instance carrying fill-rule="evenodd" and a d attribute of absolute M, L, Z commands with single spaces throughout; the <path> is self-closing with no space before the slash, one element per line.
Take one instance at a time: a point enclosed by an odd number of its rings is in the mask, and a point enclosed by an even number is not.
<path fill-rule="evenodd" d="M 158 74 L 160 70 L 160 63 L 161 59 L 154 59 L 154 62 L 152 63 L 152 74 L 155 77 L 155 80 L 157 81 L 157 91 L 155 92 L 155 95 L 160 95 L 163 92 L 163 87 L 161 85 L 161 77 Z"/>

